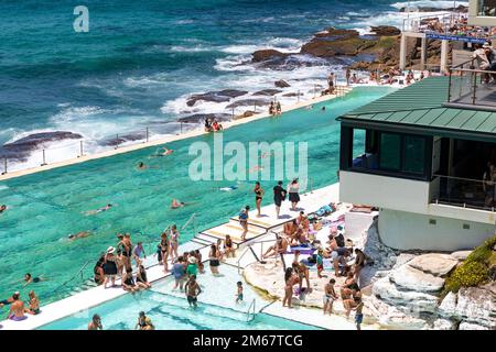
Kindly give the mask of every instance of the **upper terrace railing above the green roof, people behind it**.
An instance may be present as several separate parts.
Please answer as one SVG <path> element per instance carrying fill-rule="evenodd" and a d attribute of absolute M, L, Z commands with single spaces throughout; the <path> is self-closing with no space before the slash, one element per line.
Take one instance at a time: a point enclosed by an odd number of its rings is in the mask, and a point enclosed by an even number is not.
<path fill-rule="evenodd" d="M 468 61 L 450 68 L 448 103 L 496 111 L 496 72 L 475 68 Z"/>

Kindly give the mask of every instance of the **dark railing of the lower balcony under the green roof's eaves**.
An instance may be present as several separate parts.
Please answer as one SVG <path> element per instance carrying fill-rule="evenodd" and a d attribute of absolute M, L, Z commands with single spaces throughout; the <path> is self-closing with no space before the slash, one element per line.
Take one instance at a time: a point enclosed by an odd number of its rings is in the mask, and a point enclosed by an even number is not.
<path fill-rule="evenodd" d="M 495 212 L 495 186 L 478 179 L 435 175 L 432 202 Z"/>

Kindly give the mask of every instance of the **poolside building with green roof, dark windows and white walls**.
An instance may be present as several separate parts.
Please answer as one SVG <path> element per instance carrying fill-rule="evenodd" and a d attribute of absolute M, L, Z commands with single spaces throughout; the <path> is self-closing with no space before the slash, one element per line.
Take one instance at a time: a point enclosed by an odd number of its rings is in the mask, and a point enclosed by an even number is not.
<path fill-rule="evenodd" d="M 386 245 L 466 250 L 496 232 L 483 182 L 496 162 L 496 87 L 483 75 L 454 68 L 338 118 L 341 200 L 378 207 Z"/>

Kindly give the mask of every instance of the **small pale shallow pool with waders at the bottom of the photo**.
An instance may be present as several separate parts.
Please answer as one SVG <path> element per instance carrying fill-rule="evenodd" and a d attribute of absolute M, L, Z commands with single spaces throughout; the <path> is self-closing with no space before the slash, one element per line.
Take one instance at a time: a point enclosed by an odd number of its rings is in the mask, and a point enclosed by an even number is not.
<path fill-rule="evenodd" d="M 151 290 L 126 295 L 87 311 L 52 322 L 40 330 L 86 330 L 94 314 L 101 317 L 106 330 L 132 330 L 138 314 L 143 310 L 157 329 L 161 330 L 310 330 L 313 326 L 270 316 L 260 311 L 271 304 L 263 300 L 252 288 L 245 285 L 245 301 L 235 302 L 236 282 L 241 277 L 235 267 L 220 266 L 223 276 L 209 273 L 198 275 L 203 293 L 198 297 L 198 308 L 188 307 L 183 293 L 172 292 L 172 278 L 157 283 Z M 281 273 L 282 275 L 282 273 Z M 248 314 L 256 300 L 256 315 Z M 277 302 L 280 304 L 280 302 Z"/>

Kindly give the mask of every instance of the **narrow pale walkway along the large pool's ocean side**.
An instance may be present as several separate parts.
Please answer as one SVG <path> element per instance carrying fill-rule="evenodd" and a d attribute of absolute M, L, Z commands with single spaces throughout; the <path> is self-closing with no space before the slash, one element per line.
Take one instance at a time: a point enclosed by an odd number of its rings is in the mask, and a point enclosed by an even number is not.
<path fill-rule="evenodd" d="M 343 89 L 343 95 L 347 95 L 348 92 L 351 92 L 353 90 L 352 87 L 342 87 L 342 89 Z M 327 95 L 327 96 L 315 97 L 315 98 L 312 98 L 312 99 L 303 100 L 303 101 L 300 101 L 300 102 L 298 102 L 295 105 L 283 107 L 282 112 L 288 112 L 288 111 L 291 111 L 291 110 L 300 109 L 300 108 L 303 108 L 303 107 L 308 107 L 308 106 L 311 106 L 311 105 L 314 105 L 314 103 L 327 101 L 327 100 L 335 99 L 335 98 L 338 98 L 338 97 L 339 97 L 338 95 Z M 261 120 L 261 119 L 266 119 L 266 118 L 269 118 L 269 117 L 271 117 L 271 116 L 268 112 L 257 113 L 257 114 L 255 114 L 252 117 L 249 117 L 249 118 L 240 118 L 240 119 L 235 119 L 233 121 L 223 122 L 223 128 L 224 128 L 224 130 L 227 130 L 227 129 L 233 128 L 235 125 L 249 123 L 249 122 Z M 0 175 L 0 182 L 7 180 L 7 179 L 11 179 L 11 178 L 15 178 L 15 177 L 25 176 L 25 175 L 35 174 L 35 173 L 40 173 L 40 172 L 44 172 L 44 170 L 48 170 L 48 169 L 52 169 L 52 168 L 58 168 L 58 167 L 63 167 L 63 166 L 85 163 L 85 162 L 97 160 L 97 158 L 109 157 L 109 156 L 117 155 L 117 154 L 129 153 L 129 152 L 138 151 L 138 150 L 141 150 L 141 148 L 145 148 L 145 147 L 149 147 L 149 146 L 163 145 L 163 144 L 166 144 L 166 143 L 181 141 L 181 140 L 186 140 L 186 139 L 191 139 L 191 138 L 195 138 L 195 136 L 198 136 L 198 135 L 202 135 L 202 134 L 208 134 L 208 133 L 209 132 L 205 132 L 203 127 L 202 127 L 202 128 L 198 128 L 198 129 L 195 129 L 195 130 L 192 130 L 192 131 L 187 131 L 187 132 L 182 133 L 182 134 L 169 135 L 166 138 L 154 140 L 154 141 L 143 142 L 143 143 L 139 143 L 139 144 L 132 144 L 132 145 L 123 145 L 123 146 L 119 146 L 119 147 L 112 148 L 110 151 L 105 151 L 105 152 L 100 152 L 100 153 L 83 155 L 83 156 L 78 156 L 78 157 L 75 157 L 75 158 L 65 160 L 65 161 L 62 161 L 62 162 L 55 162 L 55 163 L 47 164 L 47 165 L 44 165 L 44 166 L 37 166 L 37 167 L 32 167 L 32 168 L 25 168 L 25 169 L 8 172 L 7 174 Z"/>

